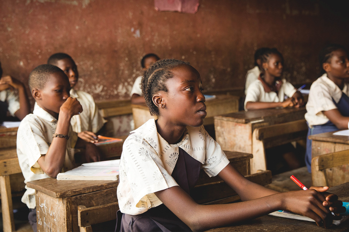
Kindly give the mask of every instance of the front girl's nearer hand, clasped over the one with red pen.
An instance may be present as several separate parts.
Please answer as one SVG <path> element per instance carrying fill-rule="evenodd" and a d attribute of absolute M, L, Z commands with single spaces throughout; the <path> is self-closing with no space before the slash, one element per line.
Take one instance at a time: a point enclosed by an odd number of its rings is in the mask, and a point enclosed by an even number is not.
<path fill-rule="evenodd" d="M 286 211 L 310 217 L 318 226 L 324 225 L 325 228 L 328 228 L 332 225 L 333 216 L 328 207 L 323 205 L 324 202 L 327 202 L 325 196 L 322 192 L 318 192 L 315 189 L 319 189 L 319 187 L 312 187 L 312 189 L 305 191 L 281 193 L 284 194 L 282 206 Z"/>

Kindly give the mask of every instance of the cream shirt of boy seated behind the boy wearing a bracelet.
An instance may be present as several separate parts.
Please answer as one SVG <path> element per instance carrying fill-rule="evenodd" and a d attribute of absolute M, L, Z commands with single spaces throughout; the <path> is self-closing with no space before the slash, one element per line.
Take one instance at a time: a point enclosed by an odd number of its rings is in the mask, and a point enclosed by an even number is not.
<path fill-rule="evenodd" d="M 70 120 L 73 131 L 79 133 L 87 130 L 97 133 L 106 120 L 99 113 L 93 97 L 84 91 L 74 89 L 70 89 L 70 97 L 76 98 L 83 110 L 81 114 L 74 115 Z"/>

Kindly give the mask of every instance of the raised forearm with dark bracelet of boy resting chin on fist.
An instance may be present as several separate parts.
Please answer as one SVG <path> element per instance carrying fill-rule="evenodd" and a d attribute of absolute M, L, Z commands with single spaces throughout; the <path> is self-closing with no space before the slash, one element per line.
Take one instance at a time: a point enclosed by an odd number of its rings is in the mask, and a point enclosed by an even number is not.
<path fill-rule="evenodd" d="M 68 135 L 70 119 L 66 114 L 60 114 L 55 134 Z M 67 149 L 67 139 L 54 137 L 47 153 L 43 156 L 43 162 L 39 163 L 43 171 L 55 178 L 61 172 L 64 165 Z"/>

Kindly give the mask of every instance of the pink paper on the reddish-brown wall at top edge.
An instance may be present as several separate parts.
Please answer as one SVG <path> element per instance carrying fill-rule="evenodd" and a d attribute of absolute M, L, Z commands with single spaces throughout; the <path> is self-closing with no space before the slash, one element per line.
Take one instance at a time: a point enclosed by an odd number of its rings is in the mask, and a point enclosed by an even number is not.
<path fill-rule="evenodd" d="M 178 11 L 195 14 L 198 11 L 199 0 L 154 0 L 157 11 Z"/>

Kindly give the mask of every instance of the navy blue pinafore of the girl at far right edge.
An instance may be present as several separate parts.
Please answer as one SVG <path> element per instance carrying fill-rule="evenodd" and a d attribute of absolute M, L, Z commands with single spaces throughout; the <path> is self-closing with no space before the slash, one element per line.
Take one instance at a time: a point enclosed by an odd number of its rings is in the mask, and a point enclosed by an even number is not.
<path fill-rule="evenodd" d="M 336 103 L 333 98 L 332 98 L 332 101 L 337 106 L 337 109 L 344 117 L 349 117 L 349 97 L 346 94 L 342 93 L 342 97 L 338 103 Z M 339 130 L 339 129 L 331 121 L 328 121 L 323 125 L 315 125 L 313 126 L 313 128 L 310 128 L 308 125 L 305 164 L 309 172 L 311 172 L 311 140 L 308 139 L 308 136 L 331 132 L 335 130 Z"/>

